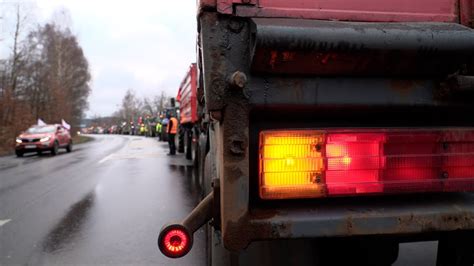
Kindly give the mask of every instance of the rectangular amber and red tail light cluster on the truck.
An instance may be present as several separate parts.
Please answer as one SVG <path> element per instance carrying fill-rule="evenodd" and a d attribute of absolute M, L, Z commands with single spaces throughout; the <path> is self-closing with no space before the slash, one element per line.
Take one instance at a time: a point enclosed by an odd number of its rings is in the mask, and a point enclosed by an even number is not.
<path fill-rule="evenodd" d="M 474 129 L 260 133 L 260 197 L 474 191 Z"/>

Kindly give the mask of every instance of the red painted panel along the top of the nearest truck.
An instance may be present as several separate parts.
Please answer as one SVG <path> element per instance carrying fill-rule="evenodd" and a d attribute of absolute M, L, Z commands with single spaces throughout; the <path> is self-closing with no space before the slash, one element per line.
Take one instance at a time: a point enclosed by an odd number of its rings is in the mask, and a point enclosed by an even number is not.
<path fill-rule="evenodd" d="M 258 5 L 235 6 L 235 15 L 372 22 L 459 22 L 458 1 L 259 0 Z M 232 0 L 223 0 L 219 5 L 229 6 L 232 2 Z"/>

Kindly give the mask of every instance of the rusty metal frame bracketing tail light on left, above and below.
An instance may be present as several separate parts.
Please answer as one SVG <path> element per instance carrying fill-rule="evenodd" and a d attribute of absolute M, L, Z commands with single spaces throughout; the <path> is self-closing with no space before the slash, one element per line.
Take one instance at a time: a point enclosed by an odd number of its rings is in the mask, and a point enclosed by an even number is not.
<path fill-rule="evenodd" d="M 244 6 L 238 4 L 235 7 Z M 378 207 L 359 205 L 358 201 L 354 201 L 352 205 L 251 209 L 254 206 L 251 205 L 250 195 L 252 180 L 249 162 L 252 156 L 249 132 L 252 127 L 249 114 L 255 105 L 317 107 L 324 103 L 337 105 L 350 102 L 353 105 L 435 106 L 445 104 L 435 99 L 440 80 L 419 77 L 323 78 L 316 75 L 267 77 L 250 70 L 251 19 L 203 12 L 199 22 L 202 80 L 206 107 L 213 121 L 210 129 L 211 160 L 216 168 L 215 177 L 220 182 L 221 230 L 227 248 L 241 250 L 251 241 L 259 239 L 344 236 L 348 235 L 348 231 L 341 226 L 351 224 L 355 228 L 350 231 L 352 235 L 365 234 L 367 226 L 373 226 L 376 228 L 374 232 L 381 234 L 418 233 L 428 229 L 455 230 L 459 227 L 451 221 L 461 218 L 466 219 L 462 228 L 474 228 L 472 196 L 451 203 L 432 200 L 418 209 L 412 209 L 413 205 L 406 200 L 402 201 L 403 204 L 390 205 L 384 204 L 380 198 L 377 198 L 381 204 Z M 238 82 L 239 86 L 235 86 L 236 73 L 247 77 L 239 81 L 248 82 Z M 271 107 L 268 109 L 269 112 L 273 110 Z M 438 214 L 435 213 L 437 206 L 441 206 Z M 410 220 L 412 211 L 417 212 L 413 214 L 414 220 Z M 443 219 L 446 219 L 445 223 Z M 324 226 L 331 222 L 334 225 L 328 225 L 323 232 Z M 399 223 L 402 223 L 401 229 L 394 230 Z M 433 226 L 428 226 L 430 224 Z M 308 233 L 304 233 L 308 228 Z"/>

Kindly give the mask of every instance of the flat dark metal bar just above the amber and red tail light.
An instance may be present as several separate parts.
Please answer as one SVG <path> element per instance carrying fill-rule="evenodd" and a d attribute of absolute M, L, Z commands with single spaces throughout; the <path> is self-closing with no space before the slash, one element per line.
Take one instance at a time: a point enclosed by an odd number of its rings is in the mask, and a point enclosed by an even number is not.
<path fill-rule="evenodd" d="M 246 93 L 259 106 L 437 106 L 433 80 L 252 77 Z"/>

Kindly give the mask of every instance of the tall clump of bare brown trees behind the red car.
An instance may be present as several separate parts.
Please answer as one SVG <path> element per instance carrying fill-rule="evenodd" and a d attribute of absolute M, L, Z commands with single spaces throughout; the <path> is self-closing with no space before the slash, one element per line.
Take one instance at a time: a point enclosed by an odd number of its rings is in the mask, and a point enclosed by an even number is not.
<path fill-rule="evenodd" d="M 15 10 L 12 52 L 0 60 L 0 148 L 40 117 L 79 124 L 90 94 L 89 64 L 71 30 L 48 23 L 26 34 L 25 12 Z"/>

